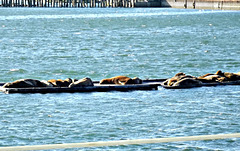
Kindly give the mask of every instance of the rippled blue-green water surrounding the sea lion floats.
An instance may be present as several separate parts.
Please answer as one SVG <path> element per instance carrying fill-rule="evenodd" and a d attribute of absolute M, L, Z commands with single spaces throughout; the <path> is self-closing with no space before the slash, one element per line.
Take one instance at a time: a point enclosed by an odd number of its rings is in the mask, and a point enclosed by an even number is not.
<path fill-rule="evenodd" d="M 240 72 L 238 11 L 0 8 L 0 82 Z M 0 93 L 0 146 L 237 133 L 240 86 Z M 62 150 L 240 149 L 239 139 Z"/>

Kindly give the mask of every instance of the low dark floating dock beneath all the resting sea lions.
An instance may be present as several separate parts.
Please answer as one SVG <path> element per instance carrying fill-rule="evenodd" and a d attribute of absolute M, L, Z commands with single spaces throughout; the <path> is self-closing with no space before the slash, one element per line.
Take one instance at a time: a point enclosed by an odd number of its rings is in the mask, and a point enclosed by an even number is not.
<path fill-rule="evenodd" d="M 150 79 L 143 80 L 143 84 L 129 84 L 129 85 L 100 85 L 99 81 L 93 81 L 94 86 L 87 87 L 31 87 L 31 88 L 3 88 L 4 83 L 0 83 L 0 91 L 5 94 L 12 93 L 75 93 L 75 92 L 109 92 L 109 91 L 147 91 L 158 90 L 161 86 L 166 89 L 186 89 L 195 87 L 179 87 L 179 86 L 167 86 L 163 84 L 166 79 Z M 210 87 L 210 86 L 225 86 L 225 85 L 240 85 L 240 80 L 226 81 L 226 82 L 212 82 L 202 83 L 198 87 Z"/>

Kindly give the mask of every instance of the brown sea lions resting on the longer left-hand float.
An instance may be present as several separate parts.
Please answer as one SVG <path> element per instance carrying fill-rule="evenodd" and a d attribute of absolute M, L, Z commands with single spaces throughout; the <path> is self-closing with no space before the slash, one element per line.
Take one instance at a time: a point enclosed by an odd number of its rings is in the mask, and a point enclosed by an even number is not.
<path fill-rule="evenodd" d="M 116 76 L 109 79 L 103 79 L 99 84 L 117 84 L 117 85 L 126 85 L 126 84 L 141 84 L 142 80 L 135 77 L 129 78 L 126 76 Z M 62 79 L 51 79 L 51 80 L 36 80 L 36 79 L 20 79 L 14 82 L 5 83 L 3 88 L 30 88 L 30 87 L 86 87 L 94 86 L 93 81 L 90 78 L 83 78 L 80 80 L 67 78 Z"/>

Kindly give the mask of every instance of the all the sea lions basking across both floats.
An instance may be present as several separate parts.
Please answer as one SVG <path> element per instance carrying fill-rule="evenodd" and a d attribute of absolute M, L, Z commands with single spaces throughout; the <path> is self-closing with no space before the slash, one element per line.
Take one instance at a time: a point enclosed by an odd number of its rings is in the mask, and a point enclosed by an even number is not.
<path fill-rule="evenodd" d="M 179 88 L 192 88 L 203 86 L 204 83 L 222 83 L 228 81 L 240 81 L 239 73 L 222 72 L 218 70 L 216 73 L 208 73 L 200 77 L 194 77 L 186 75 L 185 73 L 177 73 L 174 77 L 167 79 L 161 85 L 163 87 L 179 87 Z M 116 84 L 116 85 L 128 85 L 128 84 L 142 84 L 142 80 L 138 77 L 129 78 L 127 76 L 116 76 L 108 79 L 102 79 L 99 82 L 100 85 L 104 84 Z M 83 78 L 80 80 L 67 78 L 51 79 L 51 80 L 35 80 L 35 79 L 20 79 L 11 83 L 6 83 L 3 88 L 28 88 L 28 87 L 85 87 L 94 86 L 90 78 Z"/>

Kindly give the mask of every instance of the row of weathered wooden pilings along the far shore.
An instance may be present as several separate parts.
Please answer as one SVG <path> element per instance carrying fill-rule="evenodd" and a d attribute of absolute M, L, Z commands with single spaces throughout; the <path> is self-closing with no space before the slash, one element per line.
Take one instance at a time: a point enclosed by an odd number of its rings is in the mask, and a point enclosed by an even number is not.
<path fill-rule="evenodd" d="M 137 0 L 0 0 L 0 7 L 134 7 Z"/>

